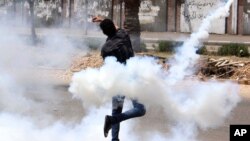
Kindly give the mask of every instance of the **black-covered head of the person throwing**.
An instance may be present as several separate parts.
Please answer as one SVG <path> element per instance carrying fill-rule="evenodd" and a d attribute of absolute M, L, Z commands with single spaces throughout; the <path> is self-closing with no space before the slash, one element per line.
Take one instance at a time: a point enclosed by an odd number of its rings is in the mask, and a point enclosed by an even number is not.
<path fill-rule="evenodd" d="M 104 19 L 100 23 L 100 27 L 102 29 L 103 34 L 107 35 L 108 37 L 112 37 L 116 33 L 115 24 L 110 19 Z"/>

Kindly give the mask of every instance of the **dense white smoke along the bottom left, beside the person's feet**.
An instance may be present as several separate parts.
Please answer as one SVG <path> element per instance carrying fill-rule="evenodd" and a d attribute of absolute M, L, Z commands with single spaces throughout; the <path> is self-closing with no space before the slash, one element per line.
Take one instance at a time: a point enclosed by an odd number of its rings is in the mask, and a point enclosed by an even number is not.
<path fill-rule="evenodd" d="M 82 140 L 104 140 L 102 129 L 102 117 L 107 113 L 109 106 L 99 109 L 89 109 L 88 115 L 83 117 L 77 125 L 68 125 L 64 122 L 54 122 L 46 127 L 39 127 L 32 118 L 8 113 L 0 114 L 1 140 L 4 141 L 82 141 Z M 45 119 L 46 120 L 46 119 Z M 135 135 L 127 124 L 120 135 L 122 138 L 131 134 L 131 141 L 137 141 Z M 110 137 L 108 138 L 110 140 Z"/>

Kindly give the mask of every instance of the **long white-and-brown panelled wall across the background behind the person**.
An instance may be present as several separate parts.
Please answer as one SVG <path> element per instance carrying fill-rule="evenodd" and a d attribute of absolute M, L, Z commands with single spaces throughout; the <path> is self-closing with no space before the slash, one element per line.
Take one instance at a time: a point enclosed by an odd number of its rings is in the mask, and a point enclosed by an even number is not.
<path fill-rule="evenodd" d="M 58 12 L 54 16 L 56 16 L 56 20 L 60 20 L 59 23 L 64 23 L 61 24 L 64 26 L 86 27 L 94 15 L 112 18 L 121 26 L 126 19 L 124 16 L 124 0 L 38 1 L 43 1 L 43 4 L 54 3 L 58 6 Z M 22 20 L 27 19 L 29 16 L 25 14 L 28 12 L 25 11 L 25 6 L 23 6 L 25 2 L 23 0 L 16 2 L 19 2 L 13 4 L 17 13 L 16 17 L 22 17 Z M 214 12 L 221 3 L 225 3 L 225 0 L 141 0 L 139 12 L 141 30 L 148 32 L 193 32 L 197 30 L 202 19 L 209 13 Z M 5 7 L 3 5 L 3 2 L 0 3 L 0 14 L 4 13 L 2 9 Z M 21 6 L 21 8 L 18 8 L 18 6 Z M 40 11 L 49 11 L 49 6 L 41 7 L 47 9 Z M 51 7 L 53 9 L 55 6 Z M 22 11 L 20 12 L 20 10 Z M 20 13 L 22 15 L 18 15 Z M 53 13 L 51 15 L 50 18 L 53 18 Z M 213 21 L 210 33 L 250 35 L 250 0 L 234 0 L 229 16 Z"/>

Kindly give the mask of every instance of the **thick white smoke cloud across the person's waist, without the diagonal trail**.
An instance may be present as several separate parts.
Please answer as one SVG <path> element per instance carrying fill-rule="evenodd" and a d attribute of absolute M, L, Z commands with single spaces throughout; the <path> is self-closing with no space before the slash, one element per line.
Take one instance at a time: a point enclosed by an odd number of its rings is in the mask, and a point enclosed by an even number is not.
<path fill-rule="evenodd" d="M 89 68 L 76 73 L 69 90 L 82 99 L 85 107 L 102 106 L 116 94 L 138 98 L 148 108 L 164 107 L 164 114 L 171 123 L 182 125 L 178 131 L 186 140 L 195 135 L 189 134 L 193 130 L 195 133 L 196 128 L 205 130 L 221 125 L 239 102 L 236 84 L 196 80 L 168 83 L 167 73 L 157 61 L 145 57 L 134 57 L 126 66 L 113 57 L 107 58 L 100 69 Z M 192 130 L 186 131 L 187 127 Z"/>

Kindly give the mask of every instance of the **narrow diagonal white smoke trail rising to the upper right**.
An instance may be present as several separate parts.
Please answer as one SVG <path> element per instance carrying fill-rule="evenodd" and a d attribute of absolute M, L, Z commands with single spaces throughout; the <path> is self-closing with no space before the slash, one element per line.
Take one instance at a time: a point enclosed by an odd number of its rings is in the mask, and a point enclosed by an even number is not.
<path fill-rule="evenodd" d="M 202 21 L 198 31 L 192 33 L 190 38 L 179 48 L 173 59 L 174 65 L 172 65 L 169 70 L 169 78 L 172 83 L 183 79 L 186 75 L 193 72 L 191 68 L 193 68 L 193 65 L 199 58 L 196 54 L 196 50 L 201 46 L 202 40 L 208 38 L 211 23 L 215 19 L 227 17 L 233 1 L 234 0 L 228 0 L 224 6 L 211 12 L 210 15 Z"/>

